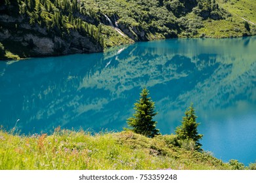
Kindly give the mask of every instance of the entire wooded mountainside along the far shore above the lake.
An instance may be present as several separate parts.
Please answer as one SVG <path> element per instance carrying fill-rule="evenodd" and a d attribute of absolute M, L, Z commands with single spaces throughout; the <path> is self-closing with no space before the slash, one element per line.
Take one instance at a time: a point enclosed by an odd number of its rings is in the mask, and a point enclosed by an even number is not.
<path fill-rule="evenodd" d="M 255 35 L 255 3 L 240 1 L 5 0 L 0 59 L 102 52 L 154 39 Z"/>

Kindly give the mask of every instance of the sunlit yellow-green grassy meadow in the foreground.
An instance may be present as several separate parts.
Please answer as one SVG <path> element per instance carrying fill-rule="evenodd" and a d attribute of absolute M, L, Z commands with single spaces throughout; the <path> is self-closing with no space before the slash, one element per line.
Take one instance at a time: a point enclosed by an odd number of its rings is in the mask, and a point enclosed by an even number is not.
<path fill-rule="evenodd" d="M 52 135 L 0 131 L 0 169 L 232 169 L 207 152 L 175 146 L 175 135 L 57 129 Z"/>

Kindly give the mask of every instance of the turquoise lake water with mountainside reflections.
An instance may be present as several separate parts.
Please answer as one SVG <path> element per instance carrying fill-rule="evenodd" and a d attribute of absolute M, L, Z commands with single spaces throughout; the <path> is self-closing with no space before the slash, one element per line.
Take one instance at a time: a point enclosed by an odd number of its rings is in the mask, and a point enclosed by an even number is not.
<path fill-rule="evenodd" d="M 256 37 L 139 42 L 99 54 L 0 62 L 0 125 L 21 133 L 121 131 L 142 88 L 162 134 L 194 103 L 203 149 L 256 159 Z"/>

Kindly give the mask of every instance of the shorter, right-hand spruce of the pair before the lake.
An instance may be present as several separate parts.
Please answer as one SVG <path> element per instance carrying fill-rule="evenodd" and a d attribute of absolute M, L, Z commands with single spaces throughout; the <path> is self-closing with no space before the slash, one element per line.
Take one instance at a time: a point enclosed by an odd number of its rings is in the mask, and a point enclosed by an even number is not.
<path fill-rule="evenodd" d="M 175 133 L 178 135 L 179 140 L 192 140 L 196 144 L 196 150 L 201 150 L 202 144 L 200 139 L 203 135 L 198 134 L 198 123 L 196 122 L 196 114 L 193 104 L 187 108 L 185 116 L 182 118 L 181 126 L 177 127 Z"/>

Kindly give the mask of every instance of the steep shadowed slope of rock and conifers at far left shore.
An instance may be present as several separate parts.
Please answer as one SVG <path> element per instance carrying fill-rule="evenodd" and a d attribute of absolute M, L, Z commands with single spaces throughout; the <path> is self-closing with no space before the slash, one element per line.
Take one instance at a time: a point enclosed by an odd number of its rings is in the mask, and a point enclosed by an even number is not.
<path fill-rule="evenodd" d="M 5 5 L 1 5 L 0 40 L 6 50 L 21 58 L 102 52 L 98 29 L 95 25 L 81 22 L 78 5 L 59 10 L 61 5 L 45 2 L 48 4 L 45 3 L 44 7 L 34 0 L 5 1 Z M 65 19 L 68 11 L 76 15 L 74 22 Z"/>

